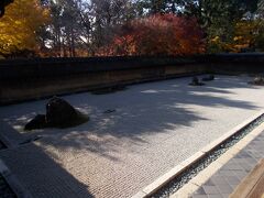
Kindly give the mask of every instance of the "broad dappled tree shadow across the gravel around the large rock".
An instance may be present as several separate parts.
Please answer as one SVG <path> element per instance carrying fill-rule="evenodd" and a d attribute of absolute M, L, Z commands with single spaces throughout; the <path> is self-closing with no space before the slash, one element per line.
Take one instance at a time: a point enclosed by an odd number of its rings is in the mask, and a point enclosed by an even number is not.
<path fill-rule="evenodd" d="M 232 89 L 251 88 L 248 79 L 240 77 L 218 77 L 202 87 L 191 87 L 191 78 L 180 78 L 158 82 L 131 86 L 121 92 L 92 96 L 78 94 L 64 97 L 80 111 L 88 113 L 90 121 L 66 130 L 48 129 L 23 133 L 41 135 L 43 145 L 59 150 L 87 150 L 109 157 L 118 145 L 125 143 L 147 144 L 147 136 L 156 133 L 166 134 L 169 130 L 191 127 L 194 122 L 207 120 L 185 105 L 201 108 L 228 107 L 255 109 L 242 99 L 228 99 Z M 13 125 L 21 127 L 34 114 L 43 113 L 46 100 L 2 107 L 0 118 Z M 109 113 L 103 113 L 108 112 Z M 128 146 L 128 145 L 127 145 Z"/>

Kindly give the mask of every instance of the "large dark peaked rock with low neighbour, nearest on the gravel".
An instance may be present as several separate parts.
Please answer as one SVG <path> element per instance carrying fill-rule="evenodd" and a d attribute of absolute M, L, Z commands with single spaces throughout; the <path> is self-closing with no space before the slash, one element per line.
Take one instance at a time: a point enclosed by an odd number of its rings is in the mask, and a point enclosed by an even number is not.
<path fill-rule="evenodd" d="M 69 128 L 79 125 L 88 120 L 88 116 L 79 112 L 66 100 L 53 97 L 46 105 L 46 114 L 37 114 L 25 124 L 24 130 Z"/>

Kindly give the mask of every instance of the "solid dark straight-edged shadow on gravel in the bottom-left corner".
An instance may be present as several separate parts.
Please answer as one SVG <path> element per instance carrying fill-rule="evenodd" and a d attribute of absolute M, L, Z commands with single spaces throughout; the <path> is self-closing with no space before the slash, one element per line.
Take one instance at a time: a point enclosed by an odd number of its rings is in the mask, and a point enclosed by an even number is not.
<path fill-rule="evenodd" d="M 26 197 L 28 193 L 30 196 L 37 198 L 92 197 L 87 185 L 78 182 L 72 174 L 64 169 L 61 164 L 47 155 L 43 148 L 32 142 L 20 145 L 23 135 L 19 135 L 18 132 L 7 123 L 0 121 L 0 136 L 4 136 L 6 140 L 12 140 L 12 147 L 0 151 L 0 158 L 11 172 L 11 174 L 6 174 L 6 176 L 10 178 L 9 182 L 12 182 L 12 184 L 9 185 L 16 188 L 19 197 Z M 4 132 L 2 129 L 4 129 Z M 18 139 L 12 139 L 14 135 Z M 16 186 L 16 179 L 19 182 L 19 188 Z M 2 190 L 4 191 L 4 189 Z"/>

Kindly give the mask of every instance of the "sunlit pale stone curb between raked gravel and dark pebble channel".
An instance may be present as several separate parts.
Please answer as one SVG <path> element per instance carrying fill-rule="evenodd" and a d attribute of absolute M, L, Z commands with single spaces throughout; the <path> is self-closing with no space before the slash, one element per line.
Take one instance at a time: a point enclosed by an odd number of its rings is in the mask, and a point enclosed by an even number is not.
<path fill-rule="evenodd" d="M 244 122 L 242 122 L 241 124 L 237 125 L 235 128 L 233 128 L 232 130 L 230 130 L 229 132 L 227 132 L 226 134 L 223 134 L 222 136 L 220 136 L 219 139 L 217 139 L 216 141 L 211 142 L 210 144 L 208 144 L 207 146 L 205 146 L 204 148 L 201 148 L 200 151 L 198 151 L 197 153 L 195 153 L 193 156 L 190 156 L 189 158 L 187 158 L 186 161 L 182 162 L 179 165 L 175 166 L 174 168 L 172 168 L 169 172 L 165 173 L 164 175 L 162 175 L 161 177 L 158 177 L 156 180 L 154 180 L 152 184 L 147 185 L 145 188 L 143 188 L 142 190 L 140 190 L 138 194 L 135 194 L 134 196 L 132 196 L 132 198 L 146 198 L 146 197 L 151 197 L 154 193 L 156 193 L 158 189 L 161 189 L 162 187 L 164 187 L 167 183 L 169 183 L 172 179 L 174 179 L 175 177 L 177 177 L 179 174 L 182 174 L 183 172 L 185 172 L 186 169 L 188 169 L 188 167 L 190 167 L 191 165 L 194 165 L 196 162 L 198 162 L 199 160 L 201 160 L 204 156 L 206 156 L 208 153 L 210 153 L 213 148 L 216 148 L 217 146 L 219 146 L 221 143 L 223 143 L 226 140 L 228 140 L 229 138 L 231 138 L 233 134 L 235 134 L 238 131 L 242 130 L 243 128 L 245 128 L 248 124 L 250 124 L 251 122 L 253 122 L 254 120 L 256 120 L 258 117 L 261 117 L 262 114 L 264 114 L 264 111 L 260 111 L 258 113 L 256 113 L 254 117 L 245 120 Z"/>

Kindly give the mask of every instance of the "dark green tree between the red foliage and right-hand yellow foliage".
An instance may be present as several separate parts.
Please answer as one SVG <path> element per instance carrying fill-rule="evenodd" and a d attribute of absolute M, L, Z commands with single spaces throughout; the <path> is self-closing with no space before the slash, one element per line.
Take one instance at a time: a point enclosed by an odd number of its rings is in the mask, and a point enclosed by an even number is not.
<path fill-rule="evenodd" d="M 257 0 L 189 0 L 184 13 L 198 19 L 207 33 L 208 52 L 218 52 L 224 50 L 222 44 L 233 41 L 237 22 L 256 9 Z"/>

